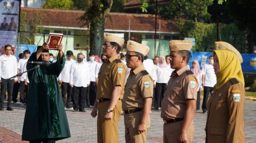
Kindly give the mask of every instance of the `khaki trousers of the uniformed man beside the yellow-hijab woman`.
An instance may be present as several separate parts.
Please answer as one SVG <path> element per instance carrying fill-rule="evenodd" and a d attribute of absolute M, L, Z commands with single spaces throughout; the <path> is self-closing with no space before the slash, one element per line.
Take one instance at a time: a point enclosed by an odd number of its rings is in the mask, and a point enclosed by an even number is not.
<path fill-rule="evenodd" d="M 163 143 L 179 143 L 180 130 L 183 121 L 163 124 Z M 194 140 L 194 122 L 192 121 L 187 129 L 187 143 L 193 143 Z"/>

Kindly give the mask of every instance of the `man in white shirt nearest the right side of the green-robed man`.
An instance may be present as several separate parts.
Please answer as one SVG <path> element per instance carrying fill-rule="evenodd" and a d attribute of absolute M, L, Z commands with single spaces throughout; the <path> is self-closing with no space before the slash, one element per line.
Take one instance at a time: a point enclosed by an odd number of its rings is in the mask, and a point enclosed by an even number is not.
<path fill-rule="evenodd" d="M 73 52 L 70 50 L 67 51 L 66 57 L 67 57 L 67 60 L 65 62 L 64 68 L 59 76 L 59 83 L 61 83 L 61 94 L 62 94 L 64 107 L 72 108 L 72 106 L 70 106 L 72 87 L 69 86 L 69 80 L 70 80 L 69 75 L 70 75 L 71 65 L 76 61 L 72 59 Z M 66 94 L 67 94 L 67 98 L 66 98 Z"/>

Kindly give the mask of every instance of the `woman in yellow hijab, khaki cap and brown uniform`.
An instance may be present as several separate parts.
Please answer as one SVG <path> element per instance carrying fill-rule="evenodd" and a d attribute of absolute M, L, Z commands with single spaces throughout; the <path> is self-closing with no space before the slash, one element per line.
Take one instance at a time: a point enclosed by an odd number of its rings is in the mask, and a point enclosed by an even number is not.
<path fill-rule="evenodd" d="M 241 54 L 227 42 L 215 42 L 217 83 L 207 103 L 206 143 L 245 143 L 245 101 Z"/>

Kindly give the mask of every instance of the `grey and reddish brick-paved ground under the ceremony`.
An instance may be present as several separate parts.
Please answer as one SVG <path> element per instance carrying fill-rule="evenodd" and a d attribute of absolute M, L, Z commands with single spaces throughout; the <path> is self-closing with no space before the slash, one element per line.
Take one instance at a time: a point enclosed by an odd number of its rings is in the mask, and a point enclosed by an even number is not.
<path fill-rule="evenodd" d="M 201 100 L 202 103 L 202 100 Z M 27 143 L 20 141 L 25 108 L 15 105 L 14 111 L 0 111 L 0 142 L 2 143 Z M 87 108 L 86 113 L 67 110 L 71 138 L 57 141 L 56 143 L 96 143 L 96 118 L 92 118 L 91 109 Z M 147 143 L 162 143 L 163 121 L 160 118 L 160 111 L 152 111 L 151 128 L 147 135 Z M 256 143 L 256 101 L 246 100 L 244 109 L 245 136 L 247 143 Z M 221 118 L 221 117 L 220 117 Z M 194 143 L 205 141 L 205 120 L 206 114 L 196 112 L 194 117 L 195 135 Z M 120 143 L 125 143 L 123 115 L 119 124 Z"/>

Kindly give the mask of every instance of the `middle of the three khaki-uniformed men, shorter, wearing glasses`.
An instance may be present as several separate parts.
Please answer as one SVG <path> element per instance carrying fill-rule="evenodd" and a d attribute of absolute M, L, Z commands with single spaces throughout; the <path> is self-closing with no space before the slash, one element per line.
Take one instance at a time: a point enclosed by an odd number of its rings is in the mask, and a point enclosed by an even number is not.
<path fill-rule="evenodd" d="M 122 108 L 124 112 L 125 142 L 146 143 L 150 127 L 149 112 L 153 97 L 153 78 L 143 66 L 149 47 L 127 41 L 125 55 L 131 72 L 125 84 Z"/>

